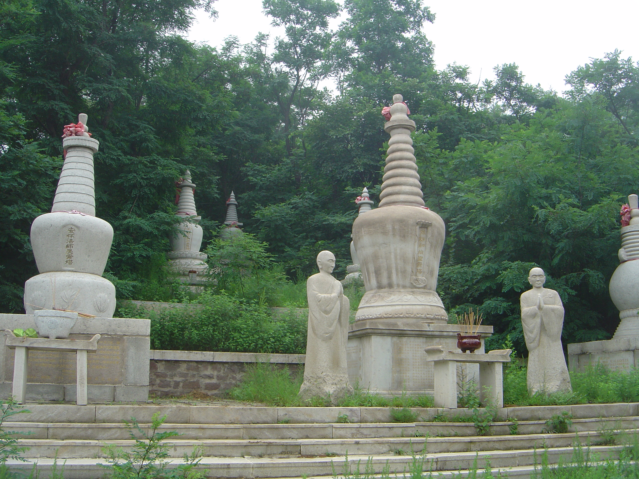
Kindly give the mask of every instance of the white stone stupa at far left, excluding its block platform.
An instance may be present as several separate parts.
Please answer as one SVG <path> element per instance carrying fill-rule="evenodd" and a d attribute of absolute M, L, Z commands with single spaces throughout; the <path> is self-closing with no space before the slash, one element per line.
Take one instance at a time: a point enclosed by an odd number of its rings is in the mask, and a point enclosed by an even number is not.
<path fill-rule="evenodd" d="M 62 167 L 51 213 L 31 225 L 31 247 L 40 274 L 24 285 L 24 309 L 68 309 L 112 317 L 114 285 L 102 277 L 109 258 L 113 228 L 95 216 L 93 154 L 100 143 L 91 138 L 86 114 L 66 125 Z"/>

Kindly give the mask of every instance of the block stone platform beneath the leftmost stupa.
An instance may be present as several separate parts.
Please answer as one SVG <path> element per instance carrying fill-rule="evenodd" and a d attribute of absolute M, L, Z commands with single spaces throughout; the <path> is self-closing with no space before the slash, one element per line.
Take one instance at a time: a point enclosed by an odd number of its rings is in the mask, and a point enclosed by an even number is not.
<path fill-rule="evenodd" d="M 36 328 L 31 314 L 0 314 L 0 330 Z M 148 319 L 78 317 L 69 339 L 100 334 L 97 351 L 88 355 L 88 401 L 146 401 L 149 391 L 150 328 Z M 29 353 L 27 400 L 75 400 L 75 353 Z M 0 354 L 0 398 L 12 394 L 13 351 Z"/>

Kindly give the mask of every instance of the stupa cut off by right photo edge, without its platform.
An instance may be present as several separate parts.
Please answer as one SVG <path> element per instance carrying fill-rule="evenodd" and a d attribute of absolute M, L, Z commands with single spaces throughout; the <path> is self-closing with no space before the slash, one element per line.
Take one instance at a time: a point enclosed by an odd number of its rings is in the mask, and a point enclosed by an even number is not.
<path fill-rule="evenodd" d="M 610 299 L 621 320 L 613 339 L 639 337 L 639 208 L 629 195 L 629 225 L 621 228 L 620 264 L 610 278 Z"/>

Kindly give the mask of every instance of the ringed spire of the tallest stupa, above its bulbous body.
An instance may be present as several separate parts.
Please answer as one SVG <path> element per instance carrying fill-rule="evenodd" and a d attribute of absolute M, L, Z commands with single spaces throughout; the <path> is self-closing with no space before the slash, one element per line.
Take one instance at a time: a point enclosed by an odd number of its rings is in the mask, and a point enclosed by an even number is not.
<path fill-rule="evenodd" d="M 380 193 L 380 208 L 390 205 L 424 206 L 422 184 L 419 182 L 415 150 L 410 133 L 415 122 L 408 118 L 408 107 L 401 95 L 393 96 L 390 120 L 384 125 L 390 134 L 386 166 Z"/>

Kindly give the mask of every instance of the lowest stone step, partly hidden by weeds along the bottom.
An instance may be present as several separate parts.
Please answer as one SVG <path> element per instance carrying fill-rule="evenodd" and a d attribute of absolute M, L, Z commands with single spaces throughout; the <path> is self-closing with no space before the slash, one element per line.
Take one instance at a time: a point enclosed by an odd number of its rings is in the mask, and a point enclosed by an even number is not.
<path fill-rule="evenodd" d="M 622 446 L 590 446 L 590 457 L 596 460 L 617 459 Z M 548 464 L 558 464 L 560 459 L 566 462 L 573 457 L 573 447 L 550 447 L 545 450 Z M 329 479 L 334 474 L 347 472 L 360 473 L 368 468 L 373 473 L 387 471 L 399 479 L 410 478 L 410 469 L 415 461 L 423 471 L 432 471 L 433 478 L 450 477 L 458 479 L 459 471 L 468 471 L 475 465 L 486 468 L 487 461 L 493 472 L 497 469 L 505 471 L 509 478 L 530 477 L 535 464 L 541 463 L 539 450 L 508 450 L 462 453 L 427 453 L 424 456 L 388 456 L 388 455 L 348 455 L 346 457 L 293 457 L 293 458 L 260 458 L 260 457 L 203 457 L 198 471 L 206 473 L 208 478 L 269 478 L 269 479 Z M 31 471 L 35 460 L 27 463 L 9 460 L 12 469 Z M 50 476 L 54 459 L 38 459 L 36 469 L 40 476 Z M 178 464 L 180 460 L 173 460 Z M 65 479 L 94 479 L 108 476 L 107 469 L 100 468 L 100 459 L 58 459 L 58 472 L 64 468 Z M 464 475 L 462 474 L 461 477 Z M 426 475 L 428 477 L 428 475 Z"/>

